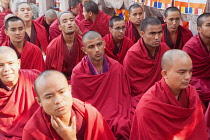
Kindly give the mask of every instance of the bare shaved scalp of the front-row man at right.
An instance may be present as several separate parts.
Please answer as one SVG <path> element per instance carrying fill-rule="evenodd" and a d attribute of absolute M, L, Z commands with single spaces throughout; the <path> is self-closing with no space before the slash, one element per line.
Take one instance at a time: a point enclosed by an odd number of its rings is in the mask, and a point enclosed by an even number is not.
<path fill-rule="evenodd" d="M 162 61 L 161 61 L 162 69 L 170 70 L 170 68 L 176 64 L 174 60 L 177 58 L 186 59 L 190 57 L 186 52 L 179 49 L 168 50 L 167 52 L 163 54 L 163 57 L 162 57 Z"/>

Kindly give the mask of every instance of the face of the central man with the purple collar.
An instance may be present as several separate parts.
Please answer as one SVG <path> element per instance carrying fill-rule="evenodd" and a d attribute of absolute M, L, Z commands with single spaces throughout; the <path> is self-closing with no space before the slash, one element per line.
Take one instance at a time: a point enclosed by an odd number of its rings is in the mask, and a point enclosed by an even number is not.
<path fill-rule="evenodd" d="M 103 60 L 105 42 L 102 40 L 101 36 L 98 36 L 94 39 L 85 40 L 83 44 L 84 47 L 82 50 L 89 56 L 91 62 Z"/>

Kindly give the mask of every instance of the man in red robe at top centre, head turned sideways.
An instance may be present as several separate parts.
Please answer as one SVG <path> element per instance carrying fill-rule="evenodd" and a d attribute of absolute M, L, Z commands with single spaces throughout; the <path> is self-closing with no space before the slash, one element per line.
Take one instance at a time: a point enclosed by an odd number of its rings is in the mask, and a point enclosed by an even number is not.
<path fill-rule="evenodd" d="M 109 20 L 111 16 L 99 10 L 98 5 L 94 1 L 88 1 L 83 5 L 83 15 L 85 17 L 82 20 L 85 27 L 82 31 L 83 33 L 97 31 L 102 37 L 109 34 Z"/>

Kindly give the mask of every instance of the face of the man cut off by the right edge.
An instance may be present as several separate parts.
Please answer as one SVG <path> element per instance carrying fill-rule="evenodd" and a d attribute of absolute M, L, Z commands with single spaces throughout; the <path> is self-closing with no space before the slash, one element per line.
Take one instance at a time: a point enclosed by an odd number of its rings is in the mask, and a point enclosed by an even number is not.
<path fill-rule="evenodd" d="M 203 19 L 203 24 L 201 27 L 198 27 L 198 32 L 202 38 L 210 38 L 210 17 Z"/>

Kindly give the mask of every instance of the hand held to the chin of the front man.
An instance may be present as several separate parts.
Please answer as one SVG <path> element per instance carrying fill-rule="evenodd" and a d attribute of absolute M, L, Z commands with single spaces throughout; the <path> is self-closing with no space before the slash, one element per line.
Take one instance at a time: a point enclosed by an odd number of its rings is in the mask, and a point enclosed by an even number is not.
<path fill-rule="evenodd" d="M 51 116 L 51 124 L 63 140 L 76 140 L 76 117 L 71 119 L 70 126 L 66 126 L 58 117 Z"/>

